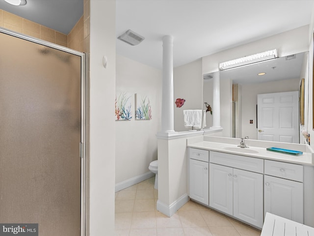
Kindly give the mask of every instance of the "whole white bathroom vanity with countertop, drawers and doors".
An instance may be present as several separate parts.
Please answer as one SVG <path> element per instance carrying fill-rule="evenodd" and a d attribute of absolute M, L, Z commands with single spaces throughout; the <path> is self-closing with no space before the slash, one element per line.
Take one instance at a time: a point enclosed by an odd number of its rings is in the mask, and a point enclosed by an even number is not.
<path fill-rule="evenodd" d="M 266 150 L 278 145 L 287 148 L 287 144 L 249 141 L 250 148 L 239 148 L 239 139 L 207 140 L 187 144 L 192 200 L 260 229 L 266 212 L 314 224 L 314 164 L 309 146 L 289 145 L 303 151 L 292 156 Z"/>

